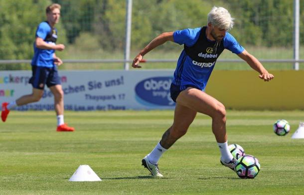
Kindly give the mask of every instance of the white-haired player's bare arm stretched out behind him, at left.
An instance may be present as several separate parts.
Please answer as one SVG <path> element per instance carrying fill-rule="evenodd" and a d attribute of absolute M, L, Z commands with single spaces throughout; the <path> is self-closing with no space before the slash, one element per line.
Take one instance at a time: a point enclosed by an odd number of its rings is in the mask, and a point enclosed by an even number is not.
<path fill-rule="evenodd" d="M 156 48 L 159 45 L 164 44 L 167 41 L 174 42 L 173 32 L 164 32 L 153 39 L 133 60 L 132 67 L 141 68 L 139 65 L 140 61 L 143 60 L 143 57 L 150 52 L 152 49 Z"/>

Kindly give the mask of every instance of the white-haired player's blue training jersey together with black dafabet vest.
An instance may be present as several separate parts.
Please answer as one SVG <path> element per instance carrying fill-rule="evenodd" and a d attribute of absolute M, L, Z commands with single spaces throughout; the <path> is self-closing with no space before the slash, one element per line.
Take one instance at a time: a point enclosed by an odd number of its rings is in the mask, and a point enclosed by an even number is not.
<path fill-rule="evenodd" d="M 193 86 L 204 90 L 214 68 L 216 59 L 224 49 L 228 49 L 235 54 L 240 54 L 244 51 L 244 48 L 236 39 L 226 32 L 226 35 L 222 39 L 222 50 L 219 49 L 217 53 L 211 54 L 214 47 L 208 46 L 210 46 L 210 44 L 215 45 L 216 41 L 207 39 L 203 29 L 206 29 L 206 27 L 194 29 L 187 28 L 184 30 L 177 30 L 173 33 L 174 42 L 179 45 L 184 45 L 185 48 L 178 58 L 177 66 L 174 71 L 174 79 L 172 81 L 173 84 L 180 86 L 181 90 L 184 90 L 187 86 Z M 197 43 L 200 45 L 197 45 Z M 201 46 L 204 49 L 204 51 L 196 53 L 198 55 L 196 55 L 195 58 L 199 58 L 199 61 L 191 59 L 185 51 L 187 48 L 194 47 L 195 45 L 195 51 L 197 50 L 197 46 Z"/>

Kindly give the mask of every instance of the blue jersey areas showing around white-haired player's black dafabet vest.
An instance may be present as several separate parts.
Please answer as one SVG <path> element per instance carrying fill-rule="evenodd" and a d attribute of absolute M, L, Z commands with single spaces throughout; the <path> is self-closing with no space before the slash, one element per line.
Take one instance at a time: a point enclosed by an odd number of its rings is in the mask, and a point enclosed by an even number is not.
<path fill-rule="evenodd" d="M 179 45 L 185 44 L 187 47 L 191 47 L 197 42 L 201 29 L 202 28 L 199 27 L 194 29 L 187 28 L 184 30 L 177 30 L 173 33 L 174 42 Z M 211 40 L 208 41 L 212 42 Z M 222 41 L 224 48 L 230 50 L 232 53 L 240 54 L 244 51 L 244 48 L 228 32 L 226 32 Z M 213 42 L 215 43 L 215 41 Z M 187 56 L 183 50 L 178 58 L 172 83 L 181 86 L 181 90 L 185 89 L 186 85 L 191 85 L 204 90 L 214 65 L 211 67 L 194 65 L 192 63 L 192 59 Z M 180 78 L 180 83 L 178 84 L 175 82 L 176 77 Z"/>

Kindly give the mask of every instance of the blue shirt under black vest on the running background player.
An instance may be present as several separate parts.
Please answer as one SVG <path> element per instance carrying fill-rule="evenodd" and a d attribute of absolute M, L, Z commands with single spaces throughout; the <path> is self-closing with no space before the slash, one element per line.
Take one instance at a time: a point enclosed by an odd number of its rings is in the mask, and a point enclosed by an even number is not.
<path fill-rule="evenodd" d="M 45 41 L 47 35 L 50 33 L 52 36 L 56 36 L 57 39 L 57 31 L 55 29 L 55 32 L 51 32 L 52 28 L 47 22 L 41 22 L 36 30 L 36 37 L 40 37 Z M 54 44 L 54 42 L 51 41 L 45 41 L 48 44 Z M 31 65 L 36 66 L 42 66 L 42 67 L 53 67 L 54 66 L 54 59 L 53 55 L 55 53 L 55 50 L 45 50 L 45 49 L 39 49 L 36 47 L 36 44 L 34 43 L 34 57 L 32 58 Z"/>

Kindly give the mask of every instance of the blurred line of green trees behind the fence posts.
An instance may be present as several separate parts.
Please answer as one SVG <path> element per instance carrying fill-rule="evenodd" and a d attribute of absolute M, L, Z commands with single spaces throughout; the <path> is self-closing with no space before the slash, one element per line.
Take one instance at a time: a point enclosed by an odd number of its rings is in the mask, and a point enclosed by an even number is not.
<path fill-rule="evenodd" d="M 104 50 L 124 49 L 126 0 L 0 0 L 0 59 L 31 59 L 36 27 L 51 3 L 62 5 L 58 42 L 73 45 L 86 35 Z M 230 11 L 235 18 L 231 33 L 243 45 L 293 45 L 293 0 L 133 0 L 132 49 L 144 47 L 162 32 L 206 25 L 214 5 Z"/>

